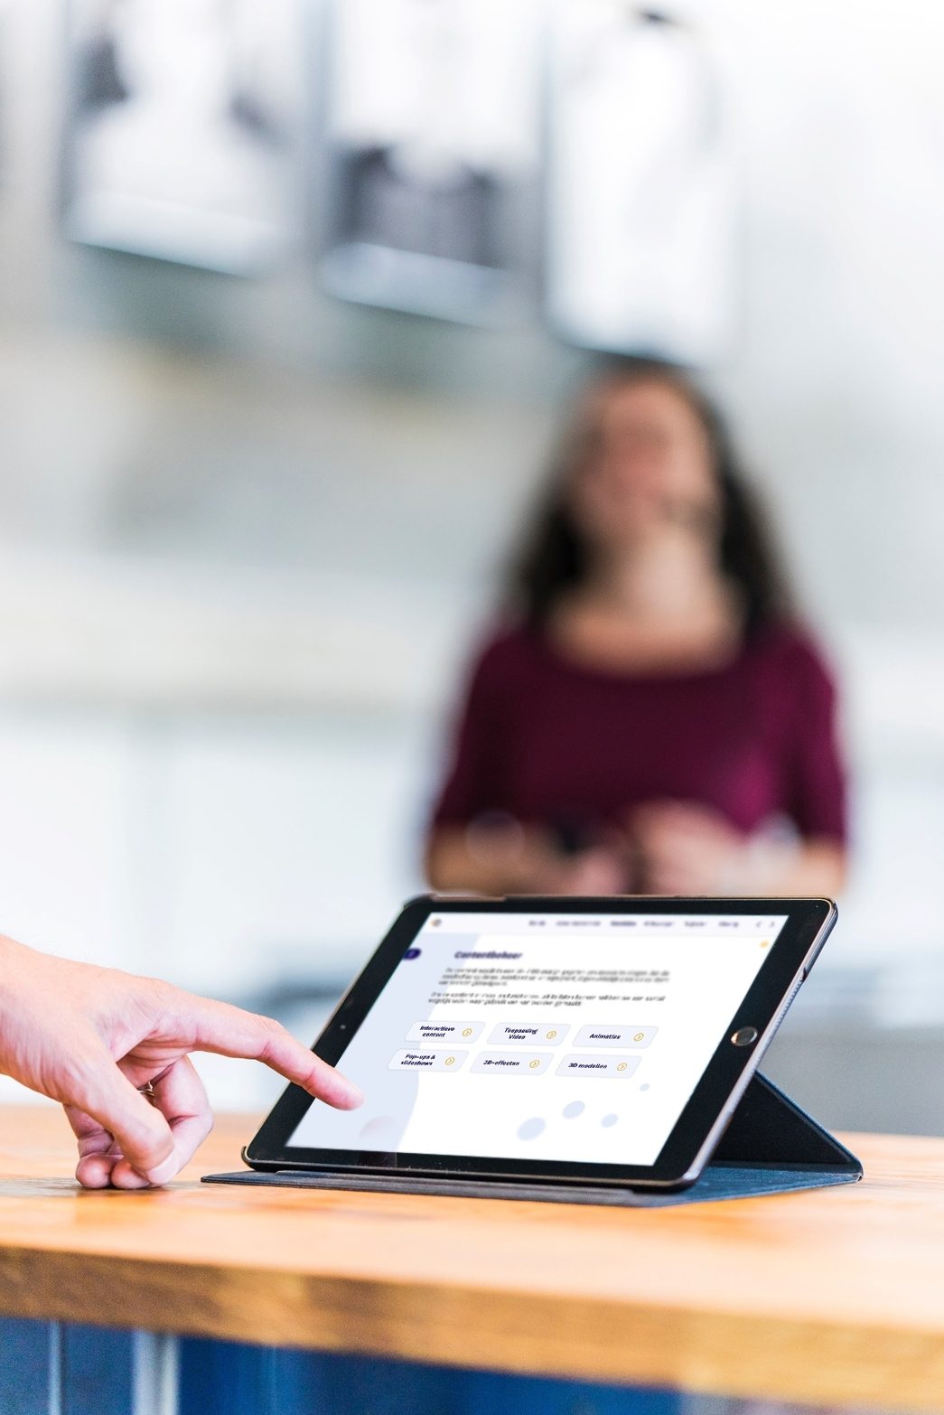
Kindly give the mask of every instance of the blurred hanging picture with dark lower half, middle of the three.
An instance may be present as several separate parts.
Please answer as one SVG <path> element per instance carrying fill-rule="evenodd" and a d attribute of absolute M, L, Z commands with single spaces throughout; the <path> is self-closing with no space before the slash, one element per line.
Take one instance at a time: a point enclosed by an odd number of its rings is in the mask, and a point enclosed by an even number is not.
<path fill-rule="evenodd" d="M 521 301 L 536 246 L 541 13 L 541 0 L 334 0 L 330 293 L 466 323 Z"/>

